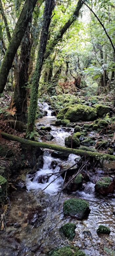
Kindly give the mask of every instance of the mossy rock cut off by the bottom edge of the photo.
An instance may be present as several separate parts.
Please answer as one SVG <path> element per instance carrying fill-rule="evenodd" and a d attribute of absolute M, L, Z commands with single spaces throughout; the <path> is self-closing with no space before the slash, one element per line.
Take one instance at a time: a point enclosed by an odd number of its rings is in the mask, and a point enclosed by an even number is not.
<path fill-rule="evenodd" d="M 85 256 L 85 253 L 78 247 L 63 246 L 48 253 L 48 256 Z"/>

